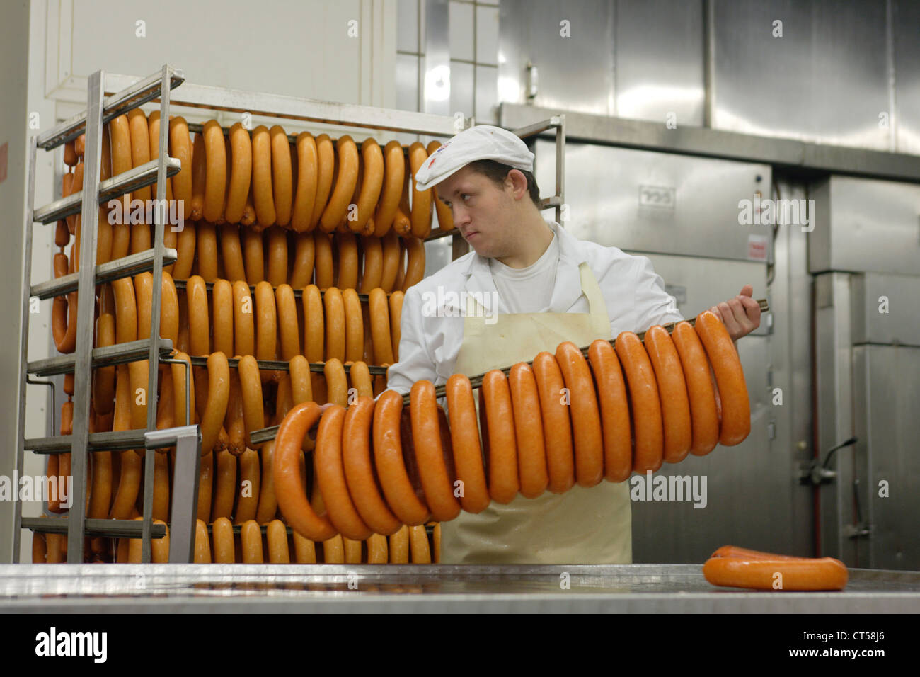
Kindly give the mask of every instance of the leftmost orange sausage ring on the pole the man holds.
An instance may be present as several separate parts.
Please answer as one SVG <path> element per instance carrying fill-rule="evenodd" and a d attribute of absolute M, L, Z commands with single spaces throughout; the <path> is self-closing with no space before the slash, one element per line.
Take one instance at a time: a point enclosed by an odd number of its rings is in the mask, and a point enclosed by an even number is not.
<path fill-rule="evenodd" d="M 275 438 L 272 475 L 278 506 L 293 531 L 311 541 L 328 541 L 336 535 L 336 528 L 310 507 L 300 476 L 304 436 L 318 419 L 319 405 L 312 402 L 297 404 L 288 412 Z"/>

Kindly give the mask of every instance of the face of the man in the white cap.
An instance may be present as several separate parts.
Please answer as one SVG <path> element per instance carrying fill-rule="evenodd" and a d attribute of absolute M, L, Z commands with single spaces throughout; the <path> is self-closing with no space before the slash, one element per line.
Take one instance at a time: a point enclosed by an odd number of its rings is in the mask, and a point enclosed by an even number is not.
<path fill-rule="evenodd" d="M 434 190 L 451 208 L 454 226 L 477 254 L 500 258 L 515 251 L 511 181 L 498 186 L 485 174 L 465 167 Z"/>

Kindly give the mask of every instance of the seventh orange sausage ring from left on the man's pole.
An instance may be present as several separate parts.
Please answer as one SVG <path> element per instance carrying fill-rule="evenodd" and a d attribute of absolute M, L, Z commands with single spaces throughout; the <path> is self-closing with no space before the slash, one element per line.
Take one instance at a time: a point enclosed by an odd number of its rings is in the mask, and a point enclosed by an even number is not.
<path fill-rule="evenodd" d="M 489 496 L 499 503 L 511 503 L 521 484 L 517 472 L 512 395 L 508 379 L 500 369 L 491 369 L 482 377 L 479 419 L 489 468 Z"/>

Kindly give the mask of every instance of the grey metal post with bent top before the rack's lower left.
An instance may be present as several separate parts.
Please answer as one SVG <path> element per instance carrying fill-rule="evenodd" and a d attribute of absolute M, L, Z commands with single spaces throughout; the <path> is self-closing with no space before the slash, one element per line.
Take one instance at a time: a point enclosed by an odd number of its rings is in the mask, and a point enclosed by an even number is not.
<path fill-rule="evenodd" d="M 194 560 L 195 554 L 198 473 L 201 468 L 201 428 L 199 426 L 180 426 L 150 430 L 144 435 L 144 446 L 147 451 L 176 447 L 169 513 L 172 517 L 169 524 L 169 563 L 188 564 Z M 147 456 L 153 456 L 153 453 L 148 453 Z M 147 542 L 155 526 L 157 525 L 144 524 L 142 538 Z"/>

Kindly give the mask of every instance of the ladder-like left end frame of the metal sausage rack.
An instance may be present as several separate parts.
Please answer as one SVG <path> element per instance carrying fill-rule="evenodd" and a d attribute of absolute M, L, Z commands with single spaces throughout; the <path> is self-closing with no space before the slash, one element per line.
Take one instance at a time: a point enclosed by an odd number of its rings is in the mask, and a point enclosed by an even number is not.
<path fill-rule="evenodd" d="M 112 280 L 152 271 L 154 279 L 163 274 L 164 263 L 176 260 L 176 251 L 167 250 L 163 244 L 165 210 L 156 209 L 154 218 L 154 246 L 147 251 L 126 256 L 117 261 L 96 264 L 98 205 L 110 197 L 128 193 L 137 188 L 157 182 L 157 204 L 166 204 L 166 179 L 181 169 L 176 158 L 169 158 L 167 153 L 160 154 L 140 167 L 123 172 L 106 181 L 100 181 L 103 125 L 152 99 L 160 99 L 162 120 L 169 119 L 169 92 L 178 87 L 184 76 L 177 68 L 164 64 L 159 73 L 139 78 L 129 86 L 119 90 L 108 98 L 103 97 L 105 73 L 101 70 L 89 76 L 86 89 L 86 111 L 58 124 L 48 132 L 33 136 L 29 142 L 29 178 L 27 188 L 25 219 L 25 263 L 22 310 L 22 340 L 20 344 L 19 376 L 19 433 L 17 437 L 16 472 L 23 469 L 25 449 L 36 453 L 70 452 L 72 481 L 70 498 L 72 507 L 67 518 L 33 519 L 23 518 L 21 503 L 15 507 L 15 530 L 13 535 L 13 561 L 18 562 L 19 538 L 23 528 L 37 531 L 56 531 L 67 533 L 67 561 L 80 564 L 84 558 L 84 542 L 87 534 L 101 536 L 141 535 L 144 539 L 142 559 L 150 561 L 150 539 L 152 535 L 162 537 L 165 530 L 154 528 L 152 520 L 153 507 L 153 473 L 154 454 L 146 454 L 144 478 L 144 519 L 141 524 L 133 520 L 86 519 L 86 480 L 88 454 L 98 450 L 113 449 L 155 449 L 165 444 L 177 446 L 177 484 L 178 490 L 173 495 L 173 536 L 170 541 L 170 560 L 190 561 L 194 537 L 194 521 L 180 524 L 176 516 L 191 516 L 191 507 L 197 498 L 197 483 L 183 487 L 180 481 L 179 465 L 182 472 L 188 473 L 190 464 L 199 462 L 199 433 L 197 426 L 155 430 L 156 427 L 156 379 L 161 357 L 168 356 L 172 343 L 159 337 L 160 329 L 160 285 L 153 286 L 153 308 L 151 312 L 150 338 L 115 344 L 105 348 L 93 348 L 93 324 L 96 308 L 96 286 Z M 66 198 L 46 204 L 36 209 L 35 169 L 38 148 L 52 150 L 80 134 L 86 134 L 86 151 L 84 160 L 84 183 L 81 193 L 74 193 Z M 168 125 L 161 125 L 159 144 L 167 148 Z M 79 255 L 79 272 L 64 275 L 55 280 L 37 285 L 31 284 L 32 228 L 36 223 L 49 224 L 65 216 L 80 214 L 83 229 Z M 75 254 L 72 254 L 75 255 Z M 70 355 L 55 356 L 48 359 L 28 361 L 29 337 L 29 301 L 30 298 L 53 298 L 76 291 L 76 347 Z M 147 430 L 126 430 L 112 433 L 89 433 L 89 402 L 93 368 L 122 364 L 137 360 L 148 360 L 149 373 L 146 393 Z M 74 385 L 74 424 L 73 434 L 52 438 L 25 438 L 26 420 L 26 384 L 29 376 L 51 376 L 73 373 Z M 33 381 L 34 382 L 34 381 Z M 197 476 L 197 474 L 196 474 Z M 138 534 L 137 532 L 141 533 Z"/>

